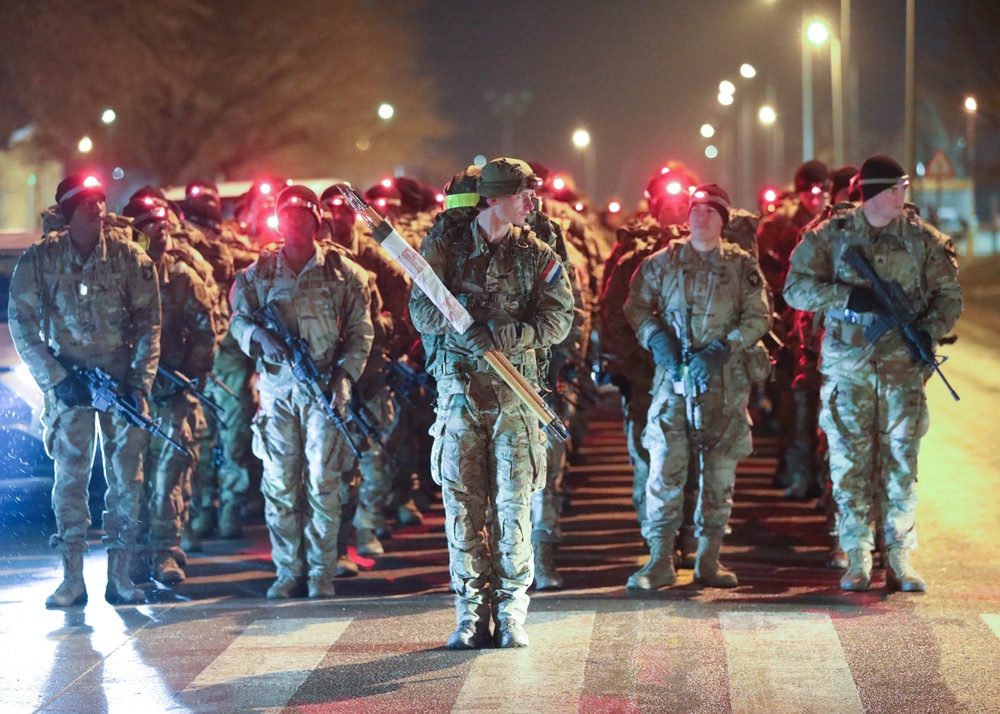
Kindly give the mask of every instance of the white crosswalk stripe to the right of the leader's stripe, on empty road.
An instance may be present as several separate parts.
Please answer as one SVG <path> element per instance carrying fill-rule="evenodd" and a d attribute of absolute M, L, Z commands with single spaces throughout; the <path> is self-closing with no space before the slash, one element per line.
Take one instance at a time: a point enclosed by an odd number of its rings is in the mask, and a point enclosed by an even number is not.
<path fill-rule="evenodd" d="M 822 613 L 720 613 L 734 712 L 864 711 Z"/>

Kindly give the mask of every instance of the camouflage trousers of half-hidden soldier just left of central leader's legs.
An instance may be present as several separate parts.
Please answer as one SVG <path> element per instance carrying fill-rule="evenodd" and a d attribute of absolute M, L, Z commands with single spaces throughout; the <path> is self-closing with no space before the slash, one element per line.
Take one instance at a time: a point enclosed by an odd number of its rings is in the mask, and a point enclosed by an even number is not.
<path fill-rule="evenodd" d="M 375 423 L 371 426 L 380 432 L 383 441 L 388 441 L 396 425 L 395 405 L 389 385 L 380 377 L 364 380 L 356 388 L 354 397 L 362 405 L 363 415 Z M 355 528 L 385 528 L 385 511 L 392 493 L 395 473 L 389 459 L 378 444 L 372 444 L 361 454 L 358 466 L 361 469 L 361 483 L 358 486 L 358 507 L 354 511 Z"/>

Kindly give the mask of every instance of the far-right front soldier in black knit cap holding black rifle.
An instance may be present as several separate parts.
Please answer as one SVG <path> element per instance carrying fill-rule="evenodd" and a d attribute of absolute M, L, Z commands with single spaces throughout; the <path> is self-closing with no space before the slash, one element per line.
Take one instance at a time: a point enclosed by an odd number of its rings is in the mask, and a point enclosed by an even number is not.
<path fill-rule="evenodd" d="M 892 158 L 871 156 L 859 174 L 861 206 L 842 205 L 805 233 L 792 254 L 785 284 L 788 303 L 823 313 L 820 425 L 830 445 L 830 479 L 840 510 L 840 547 L 848 567 L 844 590 L 871 583 L 872 479 L 880 484 L 890 589 L 922 592 L 924 580 L 909 562 L 917 546 L 917 454 L 927 432 L 921 358 L 954 326 L 962 292 L 952 241 L 905 204 L 909 177 Z M 921 345 L 891 329 L 875 344 L 864 333 L 888 308 L 845 262 L 859 250 L 882 280 L 895 281 L 916 315 Z"/>

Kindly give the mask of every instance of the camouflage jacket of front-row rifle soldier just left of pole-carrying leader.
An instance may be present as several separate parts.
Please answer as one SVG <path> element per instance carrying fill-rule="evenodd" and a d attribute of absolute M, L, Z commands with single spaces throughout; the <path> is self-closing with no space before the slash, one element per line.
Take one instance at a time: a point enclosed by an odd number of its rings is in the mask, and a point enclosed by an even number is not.
<path fill-rule="evenodd" d="M 240 348 L 257 360 L 258 388 L 271 396 L 301 401 L 287 364 L 267 360 L 251 343 L 260 327 L 254 313 L 271 302 L 293 335 L 309 343 L 309 354 L 322 374 L 343 369 L 357 381 L 372 347 L 373 328 L 368 273 L 333 247 L 316 247 L 315 257 L 296 275 L 281 250 L 261 253 L 256 263 L 236 274 L 231 294 L 230 331 Z"/>

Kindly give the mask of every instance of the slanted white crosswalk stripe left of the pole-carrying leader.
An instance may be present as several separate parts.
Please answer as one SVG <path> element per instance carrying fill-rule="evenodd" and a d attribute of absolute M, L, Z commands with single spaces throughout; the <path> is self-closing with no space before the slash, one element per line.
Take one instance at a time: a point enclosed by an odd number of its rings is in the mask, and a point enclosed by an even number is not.
<path fill-rule="evenodd" d="M 202 670 L 185 692 L 197 709 L 281 711 L 344 634 L 351 618 L 258 620 Z"/>

